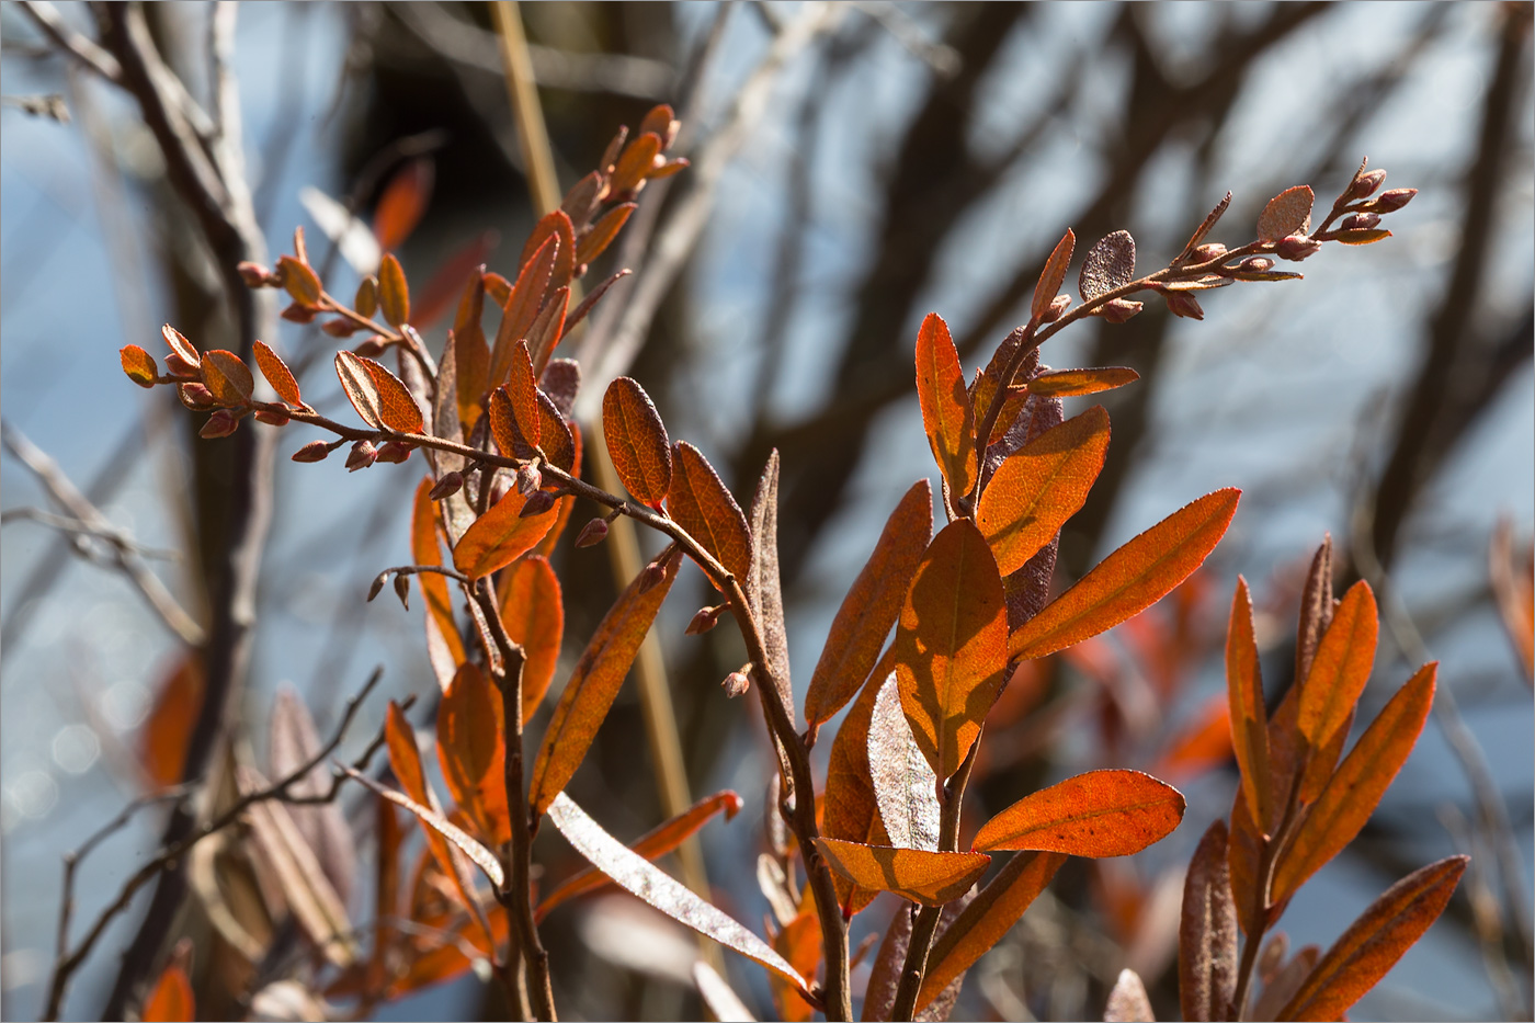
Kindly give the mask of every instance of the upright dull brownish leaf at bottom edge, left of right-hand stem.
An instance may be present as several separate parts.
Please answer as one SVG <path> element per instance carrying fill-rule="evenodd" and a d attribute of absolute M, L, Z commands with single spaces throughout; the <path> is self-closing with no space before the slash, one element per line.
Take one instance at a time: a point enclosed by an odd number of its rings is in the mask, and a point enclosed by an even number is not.
<path fill-rule="evenodd" d="M 1228 1020 L 1237 982 L 1237 911 L 1226 868 L 1226 823 L 1205 831 L 1183 880 L 1177 991 L 1185 1020 Z"/>

